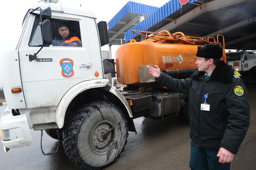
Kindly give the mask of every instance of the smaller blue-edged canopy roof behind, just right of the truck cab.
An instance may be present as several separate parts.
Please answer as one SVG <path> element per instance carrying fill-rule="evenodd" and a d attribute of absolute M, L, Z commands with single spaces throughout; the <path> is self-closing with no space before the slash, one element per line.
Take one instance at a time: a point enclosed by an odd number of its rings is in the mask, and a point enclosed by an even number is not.
<path fill-rule="evenodd" d="M 133 26 L 154 13 L 158 7 L 152 7 L 129 1 L 122 9 L 108 22 L 108 38 L 111 45 L 125 44 L 125 33 Z"/>

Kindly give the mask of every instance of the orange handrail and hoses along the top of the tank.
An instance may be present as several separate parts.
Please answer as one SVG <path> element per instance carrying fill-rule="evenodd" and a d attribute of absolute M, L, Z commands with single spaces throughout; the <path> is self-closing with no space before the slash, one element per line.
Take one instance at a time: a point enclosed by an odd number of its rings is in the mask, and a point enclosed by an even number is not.
<path fill-rule="evenodd" d="M 184 38 L 190 38 L 190 39 L 197 39 L 198 41 L 203 41 L 203 42 L 205 42 L 205 43 L 215 43 L 216 42 L 216 40 L 215 40 L 215 38 L 214 37 L 209 37 L 207 40 L 206 40 L 206 38 L 205 37 L 194 37 L 194 36 L 187 36 L 187 35 L 185 35 L 184 33 L 182 33 L 182 32 L 176 32 L 176 33 L 173 33 L 173 34 L 170 34 L 167 30 L 162 30 L 162 31 L 160 31 L 159 33 L 155 33 L 155 32 L 148 32 L 148 31 L 137 31 L 137 30 L 131 30 L 133 33 L 136 33 L 136 34 L 138 34 L 138 35 L 141 35 L 141 36 L 144 36 L 144 37 L 147 37 L 147 38 L 150 38 L 150 39 L 155 39 L 156 41 L 161 41 L 162 43 L 166 43 L 165 42 L 165 38 L 163 38 L 163 40 L 162 39 L 159 39 L 159 38 L 154 38 L 154 37 L 151 37 L 151 36 L 148 36 L 148 35 L 144 35 L 144 34 L 142 34 L 142 33 L 146 33 L 146 34 L 155 34 L 155 35 L 164 35 L 164 36 L 167 36 L 167 37 L 171 37 L 171 38 L 173 38 L 173 39 L 179 39 L 179 40 L 181 40 L 181 41 L 184 41 L 184 42 L 187 42 L 187 43 L 189 43 L 189 44 L 193 44 L 193 45 L 195 45 L 195 40 L 193 40 L 192 42 L 190 42 L 190 41 L 187 41 L 187 40 L 185 40 Z M 223 35 L 222 35 L 223 36 Z M 181 37 L 181 38 L 179 38 L 179 37 Z M 224 36 L 223 36 L 224 37 Z M 167 38 L 167 39 L 169 39 L 169 38 Z M 209 41 L 209 39 L 214 39 L 214 42 L 211 42 L 211 41 Z"/>

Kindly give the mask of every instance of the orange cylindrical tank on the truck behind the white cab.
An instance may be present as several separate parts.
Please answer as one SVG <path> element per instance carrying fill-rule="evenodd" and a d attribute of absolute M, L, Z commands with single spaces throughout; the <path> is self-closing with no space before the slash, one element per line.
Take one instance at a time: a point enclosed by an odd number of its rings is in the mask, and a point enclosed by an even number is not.
<path fill-rule="evenodd" d="M 147 33 L 147 32 L 141 32 Z M 125 44 L 115 52 L 117 80 L 125 85 L 140 83 L 140 65 L 158 65 L 163 70 L 184 70 L 197 68 L 195 54 L 197 46 L 203 46 L 205 38 L 189 37 L 183 33 L 170 34 L 168 31 L 154 33 L 152 37 Z M 224 41 L 224 38 L 223 38 Z M 220 44 L 219 42 L 215 43 Z M 223 48 L 222 59 L 226 59 Z"/>

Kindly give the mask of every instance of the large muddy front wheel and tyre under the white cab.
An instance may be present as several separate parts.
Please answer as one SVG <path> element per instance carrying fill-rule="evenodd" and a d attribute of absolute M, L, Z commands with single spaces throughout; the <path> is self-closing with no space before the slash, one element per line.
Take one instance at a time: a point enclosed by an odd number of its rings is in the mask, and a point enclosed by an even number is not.
<path fill-rule="evenodd" d="M 111 128 L 104 139 L 102 134 Z M 71 163 L 95 170 L 120 157 L 127 137 L 127 120 L 121 109 L 106 101 L 94 101 L 65 124 L 62 144 Z"/>

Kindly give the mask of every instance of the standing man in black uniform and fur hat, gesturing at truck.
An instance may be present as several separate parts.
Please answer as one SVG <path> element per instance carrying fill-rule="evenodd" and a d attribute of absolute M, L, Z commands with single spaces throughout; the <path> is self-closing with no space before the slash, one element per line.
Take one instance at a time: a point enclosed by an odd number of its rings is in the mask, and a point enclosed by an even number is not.
<path fill-rule="evenodd" d="M 176 79 L 148 65 L 159 84 L 189 94 L 192 170 L 229 170 L 249 127 L 248 92 L 217 44 L 198 46 L 198 71 Z"/>

